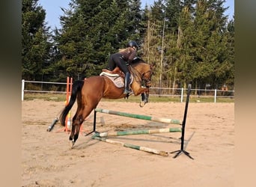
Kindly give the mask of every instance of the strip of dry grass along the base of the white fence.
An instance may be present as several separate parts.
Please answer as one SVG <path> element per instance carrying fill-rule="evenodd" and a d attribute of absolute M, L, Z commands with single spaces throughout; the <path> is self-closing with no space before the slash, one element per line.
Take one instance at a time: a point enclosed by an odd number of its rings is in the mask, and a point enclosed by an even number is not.
<path fill-rule="evenodd" d="M 66 94 L 64 93 L 25 93 L 24 100 L 43 99 L 48 101 L 65 101 Z M 129 96 L 129 99 L 102 99 L 109 102 L 139 102 L 140 96 Z M 150 96 L 149 102 L 180 102 L 180 96 Z M 186 96 L 183 97 L 183 102 L 186 102 Z M 214 102 L 213 96 L 190 96 L 189 102 Z M 234 98 L 218 97 L 216 102 L 234 102 Z"/>

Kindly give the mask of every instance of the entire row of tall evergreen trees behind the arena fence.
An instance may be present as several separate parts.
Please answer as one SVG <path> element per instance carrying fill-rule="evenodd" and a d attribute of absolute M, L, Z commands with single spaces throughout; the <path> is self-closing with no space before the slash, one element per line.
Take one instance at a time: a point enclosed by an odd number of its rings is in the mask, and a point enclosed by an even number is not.
<path fill-rule="evenodd" d="M 153 65 L 152 86 L 234 85 L 234 20 L 224 0 L 71 0 L 61 29 L 46 28 L 37 0 L 22 1 L 22 78 L 65 82 L 99 75 L 129 40 Z"/>

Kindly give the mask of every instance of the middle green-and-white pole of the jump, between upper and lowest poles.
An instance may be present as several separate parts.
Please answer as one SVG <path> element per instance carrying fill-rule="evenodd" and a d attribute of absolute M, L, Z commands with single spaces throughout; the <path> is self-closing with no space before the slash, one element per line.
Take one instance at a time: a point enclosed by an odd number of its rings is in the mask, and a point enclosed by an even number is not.
<path fill-rule="evenodd" d="M 119 135 L 145 135 L 145 134 L 166 133 L 166 132 L 181 132 L 181 129 L 165 128 L 165 129 L 144 129 L 144 130 L 118 131 L 118 132 L 96 132 L 94 136 L 107 137 L 107 136 L 119 136 Z"/>

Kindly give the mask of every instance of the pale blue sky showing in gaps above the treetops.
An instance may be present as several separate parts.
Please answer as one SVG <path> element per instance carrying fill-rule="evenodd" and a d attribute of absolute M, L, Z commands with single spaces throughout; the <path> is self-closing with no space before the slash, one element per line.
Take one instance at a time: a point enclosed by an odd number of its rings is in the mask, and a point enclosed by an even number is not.
<path fill-rule="evenodd" d="M 154 0 L 141 0 L 141 7 L 144 7 L 145 4 L 152 5 Z M 60 16 L 63 16 L 61 7 L 68 8 L 70 0 L 39 0 L 38 3 L 46 10 L 46 22 L 47 25 L 52 29 L 55 27 L 61 28 Z M 229 19 L 233 19 L 234 15 L 234 0 L 226 0 L 224 5 L 229 7 L 226 11 Z"/>

